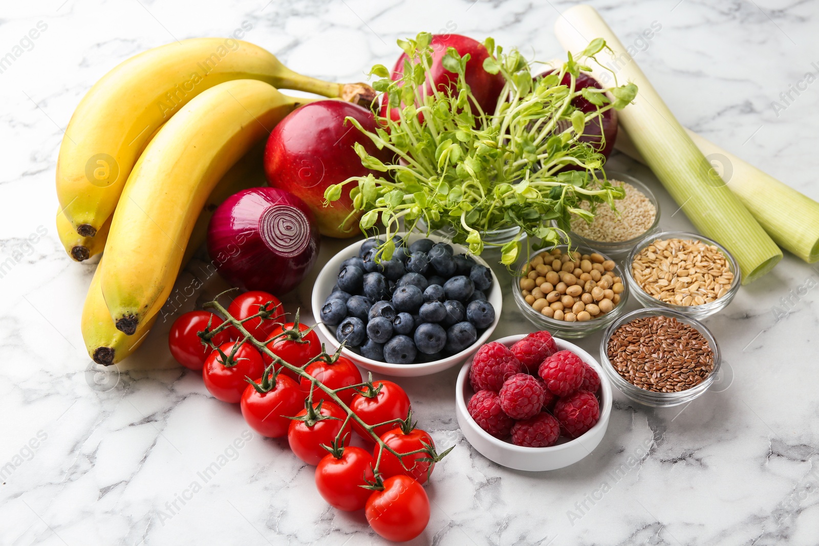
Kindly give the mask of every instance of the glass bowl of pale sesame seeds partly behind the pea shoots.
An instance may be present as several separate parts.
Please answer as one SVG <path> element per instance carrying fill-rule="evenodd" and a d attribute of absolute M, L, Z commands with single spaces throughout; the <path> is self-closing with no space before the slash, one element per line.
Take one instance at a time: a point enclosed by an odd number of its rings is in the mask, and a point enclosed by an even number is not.
<path fill-rule="evenodd" d="M 614 201 L 617 212 L 608 204 L 599 203 L 593 222 L 572 219 L 569 237 L 572 242 L 590 246 L 613 258 L 622 258 L 637 241 L 659 231 L 660 205 L 649 187 L 633 176 L 607 170 L 606 177 L 614 186 L 626 190 L 623 199 Z M 581 208 L 589 210 L 590 205 L 584 202 Z"/>

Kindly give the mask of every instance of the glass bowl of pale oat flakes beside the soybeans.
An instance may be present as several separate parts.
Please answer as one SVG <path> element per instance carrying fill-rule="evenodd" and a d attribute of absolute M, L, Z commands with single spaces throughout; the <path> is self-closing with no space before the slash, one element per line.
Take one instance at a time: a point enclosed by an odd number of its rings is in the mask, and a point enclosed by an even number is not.
<path fill-rule="evenodd" d="M 740 290 L 740 266 L 717 241 L 690 232 L 644 237 L 623 268 L 643 307 L 705 318 L 725 309 Z"/>

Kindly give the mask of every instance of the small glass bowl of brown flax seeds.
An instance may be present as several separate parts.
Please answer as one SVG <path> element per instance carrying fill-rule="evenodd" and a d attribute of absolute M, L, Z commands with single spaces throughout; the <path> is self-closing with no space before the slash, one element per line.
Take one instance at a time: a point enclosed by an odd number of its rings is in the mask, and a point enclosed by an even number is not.
<path fill-rule="evenodd" d="M 721 361 L 717 340 L 703 323 L 658 307 L 624 314 L 600 341 L 600 364 L 612 386 L 654 408 L 702 395 Z"/>

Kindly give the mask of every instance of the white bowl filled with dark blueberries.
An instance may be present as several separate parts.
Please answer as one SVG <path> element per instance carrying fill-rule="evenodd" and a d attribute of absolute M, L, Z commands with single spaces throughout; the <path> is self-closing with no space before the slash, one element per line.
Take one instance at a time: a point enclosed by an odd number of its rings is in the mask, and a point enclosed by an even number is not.
<path fill-rule="evenodd" d="M 382 239 L 347 246 L 316 278 L 312 306 L 328 345 L 371 372 L 415 377 L 464 362 L 500 319 L 495 273 L 467 248 L 421 233 L 393 237 L 390 260 L 377 259 Z"/>

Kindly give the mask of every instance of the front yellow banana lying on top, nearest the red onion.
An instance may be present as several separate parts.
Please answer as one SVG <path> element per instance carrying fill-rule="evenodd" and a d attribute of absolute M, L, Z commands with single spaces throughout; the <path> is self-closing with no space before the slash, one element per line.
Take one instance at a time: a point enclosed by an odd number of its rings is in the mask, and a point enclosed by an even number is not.
<path fill-rule="evenodd" d="M 220 83 L 172 117 L 139 157 L 106 244 L 102 293 L 132 335 L 174 285 L 193 223 L 215 183 L 279 120 L 311 99 L 253 79 Z"/>

